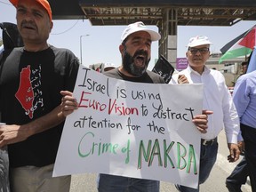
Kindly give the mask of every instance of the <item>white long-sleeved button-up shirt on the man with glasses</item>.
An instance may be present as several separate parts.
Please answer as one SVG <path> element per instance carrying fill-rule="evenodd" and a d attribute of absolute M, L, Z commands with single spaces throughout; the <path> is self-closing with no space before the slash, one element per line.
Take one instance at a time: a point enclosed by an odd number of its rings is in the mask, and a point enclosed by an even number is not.
<path fill-rule="evenodd" d="M 208 116 L 208 129 L 206 133 L 201 133 L 201 138 L 212 140 L 225 128 L 228 143 L 236 143 L 240 131 L 239 118 L 220 71 L 204 66 L 204 72 L 200 75 L 188 66 L 179 74 L 187 76 L 190 84 L 204 84 L 203 109 L 211 110 L 213 114 Z M 172 79 L 173 82 L 175 79 Z"/>

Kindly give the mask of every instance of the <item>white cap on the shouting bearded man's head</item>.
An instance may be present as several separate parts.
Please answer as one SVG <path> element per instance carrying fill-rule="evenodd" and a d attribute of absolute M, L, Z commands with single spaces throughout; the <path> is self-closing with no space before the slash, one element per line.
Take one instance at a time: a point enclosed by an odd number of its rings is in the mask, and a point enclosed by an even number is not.
<path fill-rule="evenodd" d="M 132 33 L 135 33 L 135 32 L 138 32 L 138 31 L 148 32 L 148 34 L 151 36 L 151 41 L 158 41 L 161 38 L 159 33 L 157 33 L 154 30 L 151 30 L 151 29 L 147 28 L 144 25 L 143 22 L 138 21 L 138 22 L 135 22 L 135 23 L 132 23 L 132 24 L 128 25 L 128 27 L 124 29 L 124 32 L 121 36 L 122 42 L 124 41 L 124 39 L 127 36 L 130 36 Z"/>

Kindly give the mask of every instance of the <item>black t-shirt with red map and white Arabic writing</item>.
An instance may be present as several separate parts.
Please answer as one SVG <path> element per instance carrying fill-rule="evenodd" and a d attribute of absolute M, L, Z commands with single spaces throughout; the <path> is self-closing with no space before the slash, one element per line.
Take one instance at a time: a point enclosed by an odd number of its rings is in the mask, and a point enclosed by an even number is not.
<path fill-rule="evenodd" d="M 27 124 L 60 105 L 61 90 L 73 91 L 79 62 L 67 49 L 41 52 L 15 48 L 0 74 L 2 122 Z M 63 124 L 8 146 L 11 167 L 53 164 Z"/>

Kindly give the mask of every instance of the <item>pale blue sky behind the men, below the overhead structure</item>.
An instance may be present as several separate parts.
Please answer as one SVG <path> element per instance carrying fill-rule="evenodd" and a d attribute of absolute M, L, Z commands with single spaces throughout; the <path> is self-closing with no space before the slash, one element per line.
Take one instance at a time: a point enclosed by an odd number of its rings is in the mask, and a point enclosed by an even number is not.
<path fill-rule="evenodd" d="M 0 0 L 0 22 L 16 23 L 15 8 L 7 0 Z M 220 48 L 228 41 L 255 24 L 256 20 L 238 22 L 232 27 L 178 26 L 177 56 L 185 57 L 186 45 L 191 36 L 208 36 L 213 43 L 211 52 L 220 52 Z M 53 20 L 53 29 L 48 43 L 70 49 L 80 60 L 80 36 L 83 36 L 84 66 L 88 67 L 90 64 L 99 62 L 112 62 L 119 66 L 121 56 L 118 47 L 124 28 L 125 26 L 92 26 L 89 20 Z M 154 26 L 149 28 L 157 30 Z M 0 36 L 2 36 L 2 31 Z M 158 58 L 157 47 L 158 43 L 153 42 L 148 69 L 153 68 L 154 60 Z"/>

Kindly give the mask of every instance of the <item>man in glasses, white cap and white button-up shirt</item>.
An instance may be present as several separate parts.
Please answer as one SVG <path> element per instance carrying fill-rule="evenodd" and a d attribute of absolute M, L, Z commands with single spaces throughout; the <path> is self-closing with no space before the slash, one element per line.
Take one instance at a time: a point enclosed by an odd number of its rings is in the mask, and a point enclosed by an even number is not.
<path fill-rule="evenodd" d="M 237 134 L 240 130 L 239 118 L 225 78 L 220 71 L 205 66 L 210 57 L 211 44 L 207 36 L 190 38 L 188 52 L 186 52 L 188 68 L 179 73 L 187 76 L 189 84 L 204 84 L 203 109 L 213 111 L 213 114 L 208 116 L 208 129 L 206 132 L 201 132 L 198 188 L 176 185 L 176 188 L 182 192 L 199 191 L 199 185 L 209 177 L 217 158 L 217 137 L 223 128 L 228 141 L 228 161 L 236 162 L 240 154 L 237 147 Z"/>

